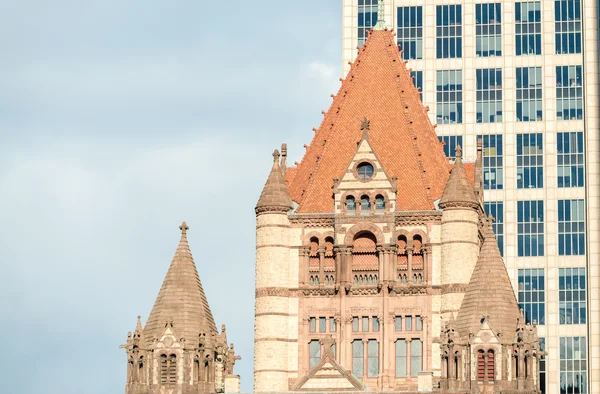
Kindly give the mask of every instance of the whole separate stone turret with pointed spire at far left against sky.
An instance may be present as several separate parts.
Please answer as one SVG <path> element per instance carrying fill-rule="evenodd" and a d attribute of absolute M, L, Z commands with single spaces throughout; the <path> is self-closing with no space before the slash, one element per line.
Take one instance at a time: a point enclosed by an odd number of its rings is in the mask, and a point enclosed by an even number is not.
<path fill-rule="evenodd" d="M 126 394 L 239 392 L 233 366 L 240 357 L 217 330 L 187 241 L 181 240 L 146 326 L 136 328 L 121 347 L 127 353 Z"/>

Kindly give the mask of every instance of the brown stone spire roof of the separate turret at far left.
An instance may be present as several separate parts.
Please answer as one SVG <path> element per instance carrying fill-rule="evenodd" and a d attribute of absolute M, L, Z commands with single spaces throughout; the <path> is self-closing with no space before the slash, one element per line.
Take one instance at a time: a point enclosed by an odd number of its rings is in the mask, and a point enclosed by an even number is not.
<path fill-rule="evenodd" d="M 144 328 L 149 341 L 163 333 L 165 321 L 172 321 L 174 333 L 187 341 L 201 332 L 218 333 L 187 241 L 189 227 L 183 222 L 179 229 L 181 240 Z"/>

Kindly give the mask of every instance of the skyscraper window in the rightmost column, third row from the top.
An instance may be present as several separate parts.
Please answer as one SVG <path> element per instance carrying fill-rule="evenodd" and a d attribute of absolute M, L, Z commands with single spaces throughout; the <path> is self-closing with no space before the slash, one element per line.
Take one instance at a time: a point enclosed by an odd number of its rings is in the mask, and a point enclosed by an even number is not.
<path fill-rule="evenodd" d="M 558 187 L 583 187 L 583 133 L 558 133 L 556 145 Z"/>

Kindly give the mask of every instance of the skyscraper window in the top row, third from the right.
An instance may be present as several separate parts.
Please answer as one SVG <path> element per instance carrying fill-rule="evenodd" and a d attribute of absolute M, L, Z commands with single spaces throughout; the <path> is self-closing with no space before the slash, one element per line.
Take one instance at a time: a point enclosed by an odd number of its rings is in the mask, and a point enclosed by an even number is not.
<path fill-rule="evenodd" d="M 502 55 L 502 13 L 500 3 L 475 4 L 475 55 Z"/>

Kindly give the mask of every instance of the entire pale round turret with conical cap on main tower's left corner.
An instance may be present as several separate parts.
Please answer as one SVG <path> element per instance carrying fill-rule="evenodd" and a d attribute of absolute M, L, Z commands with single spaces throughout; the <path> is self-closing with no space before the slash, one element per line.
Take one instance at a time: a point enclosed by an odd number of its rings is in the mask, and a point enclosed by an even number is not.
<path fill-rule="evenodd" d="M 256 305 L 254 317 L 254 391 L 288 391 L 290 347 L 298 346 L 297 317 L 292 321 L 290 269 L 297 266 L 290 247 L 292 209 L 288 187 L 279 165 L 279 152 L 273 152 L 273 167 L 256 204 Z M 297 283 L 297 269 L 296 269 Z"/>

